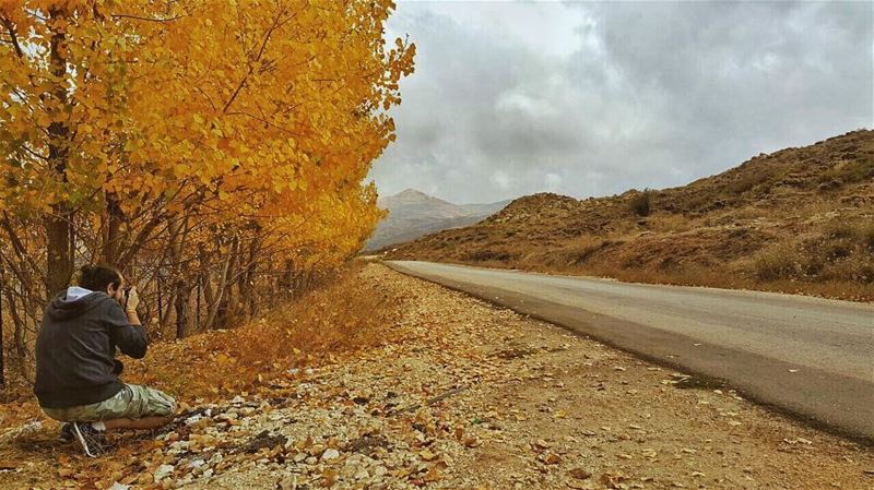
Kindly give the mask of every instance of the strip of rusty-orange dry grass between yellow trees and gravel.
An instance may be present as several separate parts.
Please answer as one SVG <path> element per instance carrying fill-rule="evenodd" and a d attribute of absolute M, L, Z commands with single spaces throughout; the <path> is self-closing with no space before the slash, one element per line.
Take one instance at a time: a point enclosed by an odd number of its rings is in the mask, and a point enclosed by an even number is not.
<path fill-rule="evenodd" d="M 290 368 L 318 366 L 392 340 L 399 299 L 367 287 L 358 267 L 333 285 L 277 304 L 263 319 L 155 346 L 132 362 L 126 381 L 167 390 L 181 399 L 252 390 Z"/>

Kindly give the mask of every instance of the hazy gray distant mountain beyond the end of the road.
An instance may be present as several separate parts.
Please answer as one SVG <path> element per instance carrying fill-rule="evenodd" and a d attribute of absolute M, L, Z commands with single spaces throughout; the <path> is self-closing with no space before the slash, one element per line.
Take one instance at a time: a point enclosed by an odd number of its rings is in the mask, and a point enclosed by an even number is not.
<path fill-rule="evenodd" d="M 388 210 L 389 215 L 379 223 L 365 250 L 379 250 L 427 234 L 473 225 L 510 202 L 454 204 L 415 189 L 406 189 L 379 199 L 379 207 Z"/>

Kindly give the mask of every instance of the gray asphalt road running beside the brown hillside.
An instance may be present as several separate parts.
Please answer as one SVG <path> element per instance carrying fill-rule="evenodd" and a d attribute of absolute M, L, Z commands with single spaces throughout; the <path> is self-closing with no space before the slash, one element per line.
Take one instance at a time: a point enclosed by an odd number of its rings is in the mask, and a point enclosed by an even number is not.
<path fill-rule="evenodd" d="M 390 267 L 724 382 L 874 443 L 874 306 L 430 262 Z"/>

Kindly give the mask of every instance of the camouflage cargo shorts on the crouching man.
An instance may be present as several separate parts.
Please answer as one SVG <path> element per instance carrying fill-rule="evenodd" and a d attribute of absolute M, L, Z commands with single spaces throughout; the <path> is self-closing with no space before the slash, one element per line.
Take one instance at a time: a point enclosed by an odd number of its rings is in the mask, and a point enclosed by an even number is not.
<path fill-rule="evenodd" d="M 99 403 L 67 408 L 43 407 L 43 411 L 61 422 L 167 417 L 176 411 L 176 399 L 160 390 L 126 384 L 115 396 Z"/>

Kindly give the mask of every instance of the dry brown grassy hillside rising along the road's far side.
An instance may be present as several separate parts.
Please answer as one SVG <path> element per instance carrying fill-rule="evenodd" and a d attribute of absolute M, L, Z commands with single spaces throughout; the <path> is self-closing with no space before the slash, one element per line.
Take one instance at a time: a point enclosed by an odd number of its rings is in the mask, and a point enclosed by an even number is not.
<path fill-rule="evenodd" d="M 661 191 L 528 195 L 386 256 L 873 300 L 874 131 Z"/>

